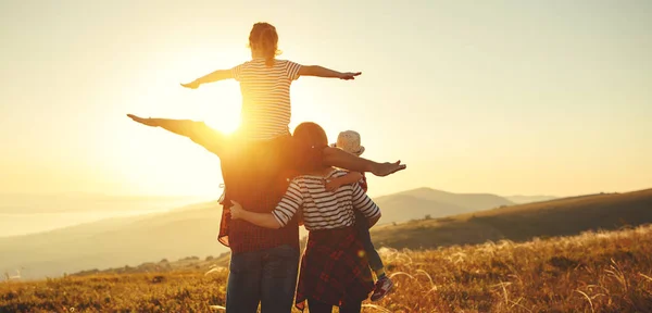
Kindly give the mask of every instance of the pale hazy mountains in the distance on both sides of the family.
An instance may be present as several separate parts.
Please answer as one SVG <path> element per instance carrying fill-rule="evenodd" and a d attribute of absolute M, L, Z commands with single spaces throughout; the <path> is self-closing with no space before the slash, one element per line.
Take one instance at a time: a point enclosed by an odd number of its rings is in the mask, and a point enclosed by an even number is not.
<path fill-rule="evenodd" d="M 384 212 L 381 224 L 513 204 L 494 195 L 459 195 L 429 188 L 375 200 Z M 110 204 L 122 210 L 121 201 L 106 201 L 103 205 Z M 24 277 L 38 278 L 161 259 L 173 261 L 218 255 L 228 251 L 216 240 L 221 214 L 222 208 L 216 202 L 205 202 L 166 213 L 111 218 L 47 233 L 0 238 L 0 272 L 24 267 Z"/>

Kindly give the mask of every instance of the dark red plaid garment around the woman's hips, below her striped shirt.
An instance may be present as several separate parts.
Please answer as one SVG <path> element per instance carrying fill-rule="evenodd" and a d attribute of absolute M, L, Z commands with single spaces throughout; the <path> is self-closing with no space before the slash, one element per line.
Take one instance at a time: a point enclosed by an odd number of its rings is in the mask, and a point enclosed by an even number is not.
<path fill-rule="evenodd" d="M 312 230 L 301 259 L 296 306 L 314 299 L 331 305 L 362 302 L 374 289 L 355 227 Z"/>

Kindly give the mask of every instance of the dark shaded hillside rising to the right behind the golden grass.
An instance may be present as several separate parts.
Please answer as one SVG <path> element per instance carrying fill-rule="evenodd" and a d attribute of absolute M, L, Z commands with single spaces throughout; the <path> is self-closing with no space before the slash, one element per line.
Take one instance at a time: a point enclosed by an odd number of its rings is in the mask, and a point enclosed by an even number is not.
<path fill-rule="evenodd" d="M 383 220 L 381 220 L 383 221 Z M 487 240 L 529 240 L 652 223 L 652 189 L 513 205 L 473 214 L 381 225 L 372 231 L 378 246 L 436 248 Z"/>

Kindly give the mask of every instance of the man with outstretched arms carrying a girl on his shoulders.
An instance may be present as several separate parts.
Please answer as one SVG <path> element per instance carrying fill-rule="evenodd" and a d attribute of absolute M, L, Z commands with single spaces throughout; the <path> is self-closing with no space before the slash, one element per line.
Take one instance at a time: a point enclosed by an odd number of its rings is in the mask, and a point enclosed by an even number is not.
<path fill-rule="evenodd" d="M 189 120 L 142 118 L 127 115 L 137 123 L 162 127 L 190 138 L 221 159 L 226 185 L 218 240 L 231 249 L 227 285 L 227 313 L 291 311 L 299 265 L 299 221 L 292 218 L 280 229 L 230 220 L 231 200 L 259 213 L 272 212 L 285 195 L 289 180 L 303 168 L 321 162 L 355 172 L 387 176 L 405 168 L 400 161 L 377 163 L 331 147 L 302 147 L 290 136 L 277 141 L 249 145 L 221 134 L 203 122 Z"/>

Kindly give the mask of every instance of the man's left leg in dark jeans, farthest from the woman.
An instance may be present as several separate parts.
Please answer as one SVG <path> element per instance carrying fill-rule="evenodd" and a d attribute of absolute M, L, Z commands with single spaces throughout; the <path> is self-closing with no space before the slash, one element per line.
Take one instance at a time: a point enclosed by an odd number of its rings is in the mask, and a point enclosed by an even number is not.
<path fill-rule="evenodd" d="M 255 313 L 261 300 L 261 252 L 231 255 L 226 286 L 227 313 Z"/>

